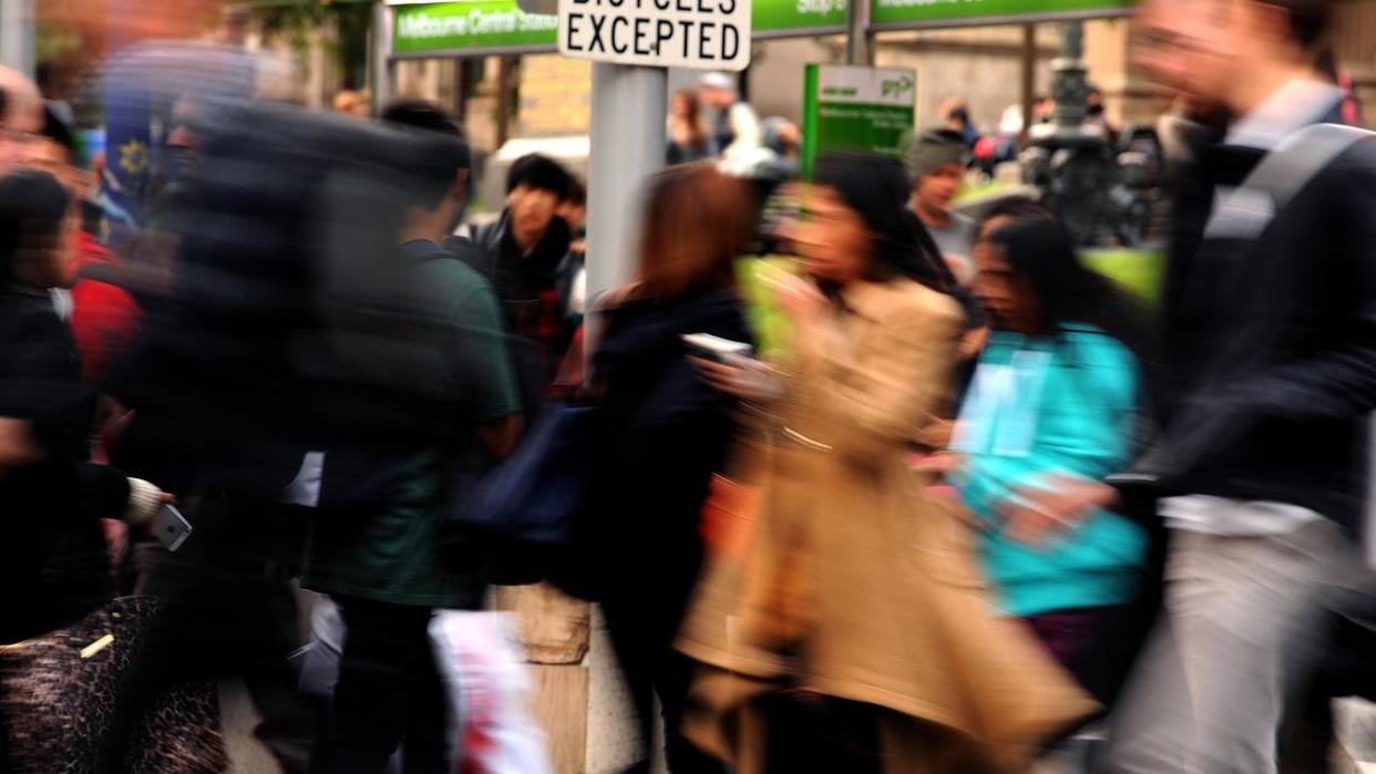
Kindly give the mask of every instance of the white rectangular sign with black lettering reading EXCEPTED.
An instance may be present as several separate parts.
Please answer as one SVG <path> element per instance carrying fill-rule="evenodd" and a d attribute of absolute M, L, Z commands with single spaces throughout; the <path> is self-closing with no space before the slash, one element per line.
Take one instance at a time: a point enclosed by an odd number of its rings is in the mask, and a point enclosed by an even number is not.
<path fill-rule="evenodd" d="M 621 65 L 744 70 L 750 0 L 559 0 L 559 52 Z"/>

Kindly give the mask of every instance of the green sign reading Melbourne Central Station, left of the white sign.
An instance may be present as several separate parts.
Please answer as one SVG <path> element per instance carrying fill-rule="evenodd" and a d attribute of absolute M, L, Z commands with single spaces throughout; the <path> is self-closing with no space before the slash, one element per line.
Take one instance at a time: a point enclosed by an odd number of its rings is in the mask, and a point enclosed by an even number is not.
<path fill-rule="evenodd" d="M 395 54 L 436 51 L 502 51 L 550 48 L 559 18 L 527 14 L 516 0 L 464 0 L 396 5 L 392 19 Z"/>

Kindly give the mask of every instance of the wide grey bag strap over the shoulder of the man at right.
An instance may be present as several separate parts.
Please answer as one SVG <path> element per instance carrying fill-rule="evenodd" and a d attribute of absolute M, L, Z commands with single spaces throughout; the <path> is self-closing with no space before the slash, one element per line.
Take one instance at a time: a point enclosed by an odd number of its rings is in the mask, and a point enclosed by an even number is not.
<path fill-rule="evenodd" d="M 1204 230 L 1211 239 L 1256 239 L 1320 172 L 1376 133 L 1315 124 L 1287 137 L 1236 190 L 1219 197 Z"/>

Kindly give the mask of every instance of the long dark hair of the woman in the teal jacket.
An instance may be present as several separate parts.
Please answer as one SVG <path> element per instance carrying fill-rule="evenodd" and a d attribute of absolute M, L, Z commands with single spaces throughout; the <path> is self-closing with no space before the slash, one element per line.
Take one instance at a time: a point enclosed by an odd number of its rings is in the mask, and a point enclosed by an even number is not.
<path fill-rule="evenodd" d="M 1032 202 L 1002 209 L 991 212 L 985 223 L 999 214 L 1013 220 L 981 238 L 1002 247 L 1013 269 L 1032 286 L 1042 327 L 1060 333 L 1076 323 L 1090 324 L 1120 341 L 1143 364 L 1153 362 L 1156 346 L 1146 305 L 1086 267 L 1071 232 L 1044 209 Z"/>

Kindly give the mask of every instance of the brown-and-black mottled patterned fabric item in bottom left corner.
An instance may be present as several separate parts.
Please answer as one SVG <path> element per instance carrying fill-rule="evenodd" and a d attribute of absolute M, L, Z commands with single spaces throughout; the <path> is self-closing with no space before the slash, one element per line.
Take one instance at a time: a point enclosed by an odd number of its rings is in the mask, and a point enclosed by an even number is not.
<path fill-rule="evenodd" d="M 4 771 L 212 774 L 228 769 L 212 683 L 139 701 L 158 604 L 111 601 L 81 621 L 0 646 Z M 121 736 L 127 742 L 121 744 Z M 117 764 L 110 760 L 121 755 Z"/>

